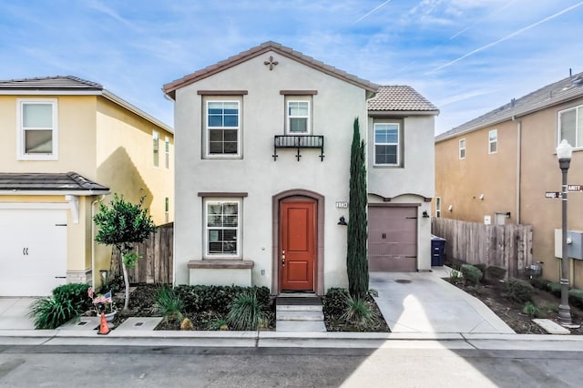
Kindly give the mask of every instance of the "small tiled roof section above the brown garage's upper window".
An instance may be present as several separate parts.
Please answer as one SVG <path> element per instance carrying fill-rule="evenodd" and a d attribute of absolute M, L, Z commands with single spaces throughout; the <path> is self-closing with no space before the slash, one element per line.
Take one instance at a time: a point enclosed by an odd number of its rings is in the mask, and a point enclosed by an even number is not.
<path fill-rule="evenodd" d="M 439 109 L 413 87 L 403 85 L 379 87 L 376 96 L 368 100 L 368 110 L 439 113 Z"/>

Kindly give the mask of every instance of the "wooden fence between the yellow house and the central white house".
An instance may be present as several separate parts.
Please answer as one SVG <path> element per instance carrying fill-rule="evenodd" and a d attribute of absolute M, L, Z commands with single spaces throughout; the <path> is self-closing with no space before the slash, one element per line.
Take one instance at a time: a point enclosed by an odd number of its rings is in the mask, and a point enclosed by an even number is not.
<path fill-rule="evenodd" d="M 140 259 L 136 267 L 128 270 L 130 283 L 172 283 L 173 276 L 174 223 L 160 225 L 148 240 L 134 244 Z M 121 260 L 118 250 L 112 253 L 113 267 L 121 274 Z"/>

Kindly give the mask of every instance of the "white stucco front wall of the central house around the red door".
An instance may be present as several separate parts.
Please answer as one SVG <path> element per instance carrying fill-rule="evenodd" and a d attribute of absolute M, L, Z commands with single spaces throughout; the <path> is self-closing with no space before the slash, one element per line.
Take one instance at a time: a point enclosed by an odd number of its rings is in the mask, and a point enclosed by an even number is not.
<path fill-rule="evenodd" d="M 270 55 L 279 62 L 272 71 L 263 65 Z M 201 159 L 202 98 L 198 90 L 247 90 L 242 97 L 241 159 Z M 323 162 L 319 150 L 278 149 L 274 161 L 273 136 L 284 134 L 284 96 L 280 90 L 317 90 L 312 104 L 312 134 L 323 135 Z M 271 288 L 272 197 L 290 189 L 308 189 L 324 197 L 324 290 L 347 284 L 346 228 L 337 225 L 348 209 L 350 145 L 353 119 L 360 117 L 366 138 L 365 91 L 324 75 L 275 53 L 265 53 L 239 66 L 200 80 L 177 91 L 175 266 L 176 282 L 188 283 L 189 260 L 202 258 L 202 199 L 199 192 L 247 192 L 242 205 L 242 258 L 253 260 L 254 284 Z M 348 220 L 350 221 L 350 220 Z M 264 273 L 263 273 L 264 272 Z"/>

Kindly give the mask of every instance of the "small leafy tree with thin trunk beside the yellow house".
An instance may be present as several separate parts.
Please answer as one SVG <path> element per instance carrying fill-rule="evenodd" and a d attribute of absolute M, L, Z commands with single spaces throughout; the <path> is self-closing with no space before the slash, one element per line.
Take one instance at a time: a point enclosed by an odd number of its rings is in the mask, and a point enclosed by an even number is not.
<path fill-rule="evenodd" d="M 132 251 L 133 244 L 148 239 L 150 233 L 156 231 L 156 225 L 148 214 L 148 209 L 142 209 L 144 197 L 138 204 L 124 199 L 123 195 L 114 194 L 110 206 L 99 202 L 99 212 L 93 218 L 99 230 L 95 240 L 99 244 L 111 245 L 121 254 L 126 300 L 124 311 L 129 308 L 128 269 L 133 268 L 138 261 L 138 253 Z"/>

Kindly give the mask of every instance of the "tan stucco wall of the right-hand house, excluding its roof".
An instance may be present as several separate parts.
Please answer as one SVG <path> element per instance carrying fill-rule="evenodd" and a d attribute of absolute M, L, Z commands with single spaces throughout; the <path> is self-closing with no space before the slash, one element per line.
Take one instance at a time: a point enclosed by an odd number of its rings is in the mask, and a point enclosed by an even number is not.
<path fill-rule="evenodd" d="M 550 281 L 558 281 L 560 272 L 554 252 L 555 229 L 561 228 L 561 200 L 545 198 L 547 191 L 561 190 L 555 151 L 557 115 L 582 103 L 579 99 L 435 143 L 435 196 L 442 199 L 442 217 L 483 222 L 489 214 L 494 223 L 496 211 L 510 211 L 507 223 L 533 226 L 533 260 L 543 261 L 543 276 Z M 498 152 L 488 155 L 488 130 L 493 128 L 498 129 Z M 460 138 L 466 139 L 465 160 L 457 158 Z M 582 151 L 573 153 L 568 184 L 583 184 Z M 482 193 L 484 200 L 479 199 Z M 447 211 L 450 204 L 451 212 Z M 435 215 L 435 202 L 432 209 Z M 568 193 L 568 230 L 583 230 L 583 192 Z M 583 288 L 583 260 L 571 260 L 569 268 L 572 284 Z"/>

